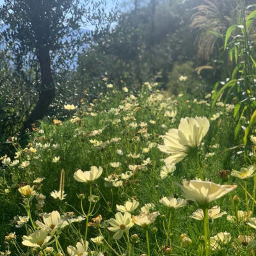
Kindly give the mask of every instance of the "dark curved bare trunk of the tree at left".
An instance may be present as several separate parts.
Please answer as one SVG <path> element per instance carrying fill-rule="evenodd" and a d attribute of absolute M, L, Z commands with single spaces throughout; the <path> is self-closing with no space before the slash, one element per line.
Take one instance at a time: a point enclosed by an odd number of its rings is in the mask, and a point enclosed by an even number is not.
<path fill-rule="evenodd" d="M 36 106 L 31 112 L 31 115 L 24 122 L 24 129 L 30 128 L 31 124 L 35 123 L 36 120 L 44 117 L 55 96 L 55 87 L 51 72 L 51 58 L 47 47 L 40 47 L 40 49 L 38 49 L 37 57 L 40 64 L 42 83 L 39 99 L 36 102 Z"/>

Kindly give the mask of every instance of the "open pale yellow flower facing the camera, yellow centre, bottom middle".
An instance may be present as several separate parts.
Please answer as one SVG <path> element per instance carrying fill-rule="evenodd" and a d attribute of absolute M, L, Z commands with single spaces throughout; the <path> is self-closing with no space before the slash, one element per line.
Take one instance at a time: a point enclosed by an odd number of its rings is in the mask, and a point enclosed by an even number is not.
<path fill-rule="evenodd" d="M 128 233 L 134 223 L 132 223 L 131 214 L 129 212 L 125 212 L 124 215 L 121 212 L 117 212 L 115 214 L 115 219 L 111 218 L 109 220 L 109 225 L 112 227 L 109 227 L 108 229 L 115 232 L 113 239 L 120 239 L 124 232 Z"/>

